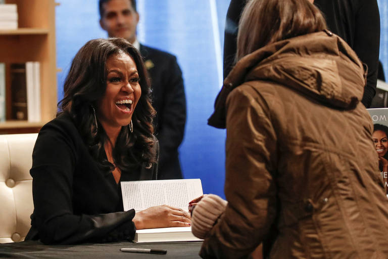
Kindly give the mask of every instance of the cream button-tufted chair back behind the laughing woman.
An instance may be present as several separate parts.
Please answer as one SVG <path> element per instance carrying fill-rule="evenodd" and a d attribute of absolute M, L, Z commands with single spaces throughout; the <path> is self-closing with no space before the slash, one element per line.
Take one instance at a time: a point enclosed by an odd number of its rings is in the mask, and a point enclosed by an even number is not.
<path fill-rule="evenodd" d="M 38 134 L 0 135 L 0 243 L 23 241 L 31 226 L 32 150 Z"/>

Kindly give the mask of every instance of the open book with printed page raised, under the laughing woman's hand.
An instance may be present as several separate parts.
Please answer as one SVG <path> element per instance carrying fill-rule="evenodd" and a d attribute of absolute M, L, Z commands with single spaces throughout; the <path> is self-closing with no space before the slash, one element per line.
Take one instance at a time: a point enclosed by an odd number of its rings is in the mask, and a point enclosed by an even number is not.
<path fill-rule="evenodd" d="M 201 179 L 121 182 L 124 210 L 170 205 L 188 211 L 188 202 L 203 194 Z M 198 241 L 190 227 L 136 230 L 134 242 Z"/>

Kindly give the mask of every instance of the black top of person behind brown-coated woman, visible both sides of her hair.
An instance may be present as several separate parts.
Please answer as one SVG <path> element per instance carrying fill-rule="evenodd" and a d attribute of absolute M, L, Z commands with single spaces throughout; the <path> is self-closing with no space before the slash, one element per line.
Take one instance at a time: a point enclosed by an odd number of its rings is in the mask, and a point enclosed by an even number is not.
<path fill-rule="evenodd" d="M 245 0 L 231 0 L 226 17 L 224 42 L 224 78 L 234 65 L 237 25 Z M 377 0 L 315 0 L 328 28 L 345 39 L 368 66 L 367 84 L 362 103 L 369 108 L 376 92 L 380 46 L 380 16 Z"/>

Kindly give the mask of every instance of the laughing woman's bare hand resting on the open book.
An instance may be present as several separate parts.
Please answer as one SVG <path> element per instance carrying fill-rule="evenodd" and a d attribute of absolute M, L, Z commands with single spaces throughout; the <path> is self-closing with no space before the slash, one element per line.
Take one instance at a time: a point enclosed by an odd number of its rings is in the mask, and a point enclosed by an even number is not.
<path fill-rule="evenodd" d="M 160 205 L 137 212 L 132 221 L 136 229 L 189 227 L 191 217 L 180 208 Z"/>

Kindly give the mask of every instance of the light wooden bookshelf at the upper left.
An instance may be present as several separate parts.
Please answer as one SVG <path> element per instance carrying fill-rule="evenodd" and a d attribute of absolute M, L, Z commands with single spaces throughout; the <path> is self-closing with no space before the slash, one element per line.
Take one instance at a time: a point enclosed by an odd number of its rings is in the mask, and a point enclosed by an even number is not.
<path fill-rule="evenodd" d="M 41 122 L 13 121 L 11 97 L 6 98 L 5 122 L 0 122 L 0 134 L 36 133 L 57 112 L 57 67 L 54 0 L 6 0 L 18 6 L 18 29 L 0 30 L 0 62 L 38 61 L 40 63 Z M 6 85 L 10 85 L 6 72 Z M 8 89 L 6 88 L 6 91 Z"/>

